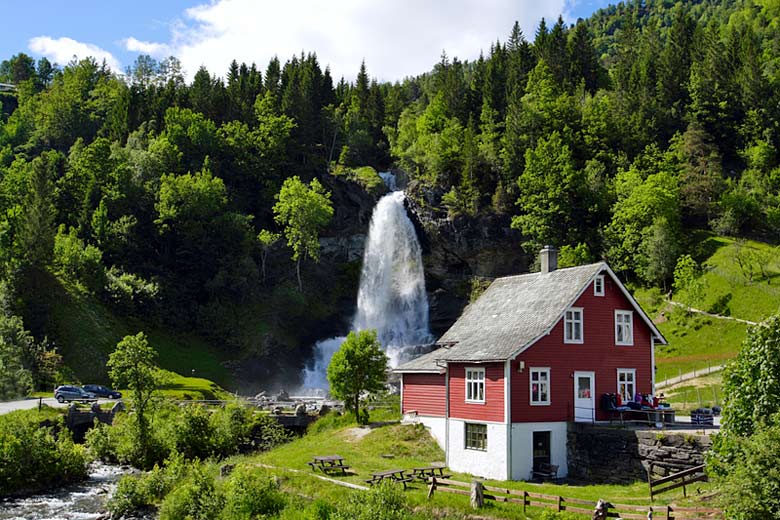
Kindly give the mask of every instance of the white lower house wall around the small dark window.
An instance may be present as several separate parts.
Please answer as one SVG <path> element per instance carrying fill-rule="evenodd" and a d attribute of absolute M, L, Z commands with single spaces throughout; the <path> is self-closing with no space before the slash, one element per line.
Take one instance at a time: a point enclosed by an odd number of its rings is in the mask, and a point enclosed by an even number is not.
<path fill-rule="evenodd" d="M 465 448 L 466 422 L 450 419 L 447 466 L 452 471 L 470 473 L 478 477 L 507 479 L 507 427 L 506 424 L 487 423 L 487 450 L 467 450 Z"/>

